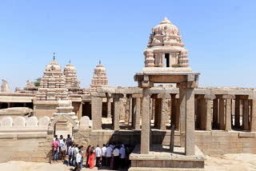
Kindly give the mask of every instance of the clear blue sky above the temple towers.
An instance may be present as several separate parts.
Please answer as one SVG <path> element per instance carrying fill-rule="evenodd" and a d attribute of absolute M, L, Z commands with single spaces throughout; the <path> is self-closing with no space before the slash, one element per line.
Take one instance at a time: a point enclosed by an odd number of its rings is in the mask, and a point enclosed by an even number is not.
<path fill-rule="evenodd" d="M 109 84 L 134 86 L 151 28 L 167 16 L 180 29 L 200 86 L 256 85 L 256 1 L 0 2 L 0 78 L 11 89 L 42 77 L 56 52 L 89 87 L 98 60 Z"/>

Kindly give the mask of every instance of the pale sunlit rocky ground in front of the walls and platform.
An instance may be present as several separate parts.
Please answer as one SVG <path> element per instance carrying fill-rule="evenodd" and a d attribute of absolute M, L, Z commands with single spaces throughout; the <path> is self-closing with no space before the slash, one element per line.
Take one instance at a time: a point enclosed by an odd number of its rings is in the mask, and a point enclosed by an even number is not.
<path fill-rule="evenodd" d="M 67 171 L 73 170 L 74 167 L 63 165 L 62 163 L 50 165 L 49 163 L 37 163 L 26 161 L 9 161 L 0 163 L 0 170 L 7 171 Z M 98 170 L 86 169 L 82 170 Z M 102 171 L 110 169 L 100 169 Z M 238 154 L 225 154 L 222 156 L 210 157 L 206 156 L 205 163 L 206 171 L 252 171 L 256 170 L 256 154 L 238 153 Z M 124 171 L 124 170 L 123 170 Z"/>

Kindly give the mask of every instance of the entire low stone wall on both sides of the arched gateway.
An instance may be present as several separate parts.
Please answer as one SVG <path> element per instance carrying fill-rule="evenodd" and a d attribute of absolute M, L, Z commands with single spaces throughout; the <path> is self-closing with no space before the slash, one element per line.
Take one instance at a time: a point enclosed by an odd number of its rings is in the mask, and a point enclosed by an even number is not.
<path fill-rule="evenodd" d="M 0 162 L 42 161 L 50 162 L 53 149 L 53 124 L 49 117 L 3 117 L 0 121 Z M 141 131 L 93 130 L 89 117 L 82 117 L 75 125 L 74 141 L 79 145 L 100 145 L 122 141 L 136 145 L 141 141 Z M 196 145 L 206 155 L 224 153 L 256 153 L 256 133 L 244 131 L 195 131 Z M 170 145 L 170 130 L 152 129 L 153 144 Z M 174 145 L 180 145 L 180 134 L 175 131 Z"/>

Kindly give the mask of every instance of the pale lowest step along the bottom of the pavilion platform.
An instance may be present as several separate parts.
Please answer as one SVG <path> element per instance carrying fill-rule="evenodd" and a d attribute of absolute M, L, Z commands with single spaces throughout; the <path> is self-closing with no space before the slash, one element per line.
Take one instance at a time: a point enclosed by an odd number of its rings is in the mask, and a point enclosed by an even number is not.
<path fill-rule="evenodd" d="M 147 168 L 147 167 L 130 167 L 128 171 L 203 171 L 204 169 L 190 168 Z"/>

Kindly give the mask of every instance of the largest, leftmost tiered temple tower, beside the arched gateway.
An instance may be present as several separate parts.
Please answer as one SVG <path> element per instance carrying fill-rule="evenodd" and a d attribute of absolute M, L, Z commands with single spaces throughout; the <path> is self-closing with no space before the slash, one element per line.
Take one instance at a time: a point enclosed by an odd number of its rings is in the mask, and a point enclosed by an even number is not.
<path fill-rule="evenodd" d="M 55 55 L 55 54 L 54 54 Z M 46 66 L 46 71 L 40 82 L 40 87 L 36 95 L 37 101 L 57 101 L 68 99 L 68 89 L 66 89 L 66 79 L 62 73 L 62 67 L 54 60 Z"/>

